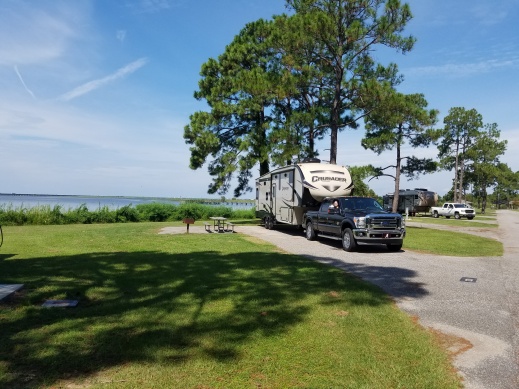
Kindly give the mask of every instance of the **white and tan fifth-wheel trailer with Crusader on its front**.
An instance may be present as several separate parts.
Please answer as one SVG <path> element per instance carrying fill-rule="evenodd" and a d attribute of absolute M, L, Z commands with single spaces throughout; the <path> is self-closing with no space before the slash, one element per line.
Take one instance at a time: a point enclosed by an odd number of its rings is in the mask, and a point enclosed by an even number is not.
<path fill-rule="evenodd" d="M 346 167 L 319 159 L 281 167 L 256 179 L 256 217 L 268 229 L 301 226 L 306 211 L 318 209 L 325 197 L 352 194 L 353 187 Z"/>

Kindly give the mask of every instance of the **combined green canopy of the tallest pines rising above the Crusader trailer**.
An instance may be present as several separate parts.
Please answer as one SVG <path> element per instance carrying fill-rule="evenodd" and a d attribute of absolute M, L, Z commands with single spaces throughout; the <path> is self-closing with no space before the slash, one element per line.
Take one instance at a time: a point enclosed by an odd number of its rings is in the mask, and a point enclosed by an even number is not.
<path fill-rule="evenodd" d="M 415 39 L 402 32 L 411 19 L 399 1 L 287 1 L 292 15 L 247 24 L 217 59 L 202 65 L 195 112 L 184 128 L 190 167 L 207 162 L 208 193 L 225 194 L 237 175 L 235 197 L 250 191 L 252 169 L 317 155 L 330 135 L 336 163 L 338 132 L 357 128 L 380 90 L 401 81 L 395 64 L 382 66 L 376 46 L 403 53 Z"/>

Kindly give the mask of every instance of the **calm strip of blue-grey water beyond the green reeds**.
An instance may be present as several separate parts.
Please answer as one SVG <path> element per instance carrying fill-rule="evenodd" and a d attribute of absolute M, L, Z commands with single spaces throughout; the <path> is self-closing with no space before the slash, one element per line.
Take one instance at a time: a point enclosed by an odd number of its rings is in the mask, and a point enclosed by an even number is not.
<path fill-rule="evenodd" d="M 82 196 L 53 196 L 53 195 L 10 195 L 0 194 L 0 207 L 12 207 L 14 209 L 25 207 L 33 208 L 41 205 L 48 205 L 51 208 L 55 205 L 61 205 L 64 210 L 76 209 L 85 204 L 90 211 L 94 211 L 101 207 L 109 209 L 118 209 L 126 205 L 138 205 L 146 203 L 165 203 L 180 204 L 179 201 L 150 198 L 150 197 L 82 197 Z M 233 209 L 249 209 L 254 206 L 254 202 L 207 202 L 207 205 L 223 205 Z"/>

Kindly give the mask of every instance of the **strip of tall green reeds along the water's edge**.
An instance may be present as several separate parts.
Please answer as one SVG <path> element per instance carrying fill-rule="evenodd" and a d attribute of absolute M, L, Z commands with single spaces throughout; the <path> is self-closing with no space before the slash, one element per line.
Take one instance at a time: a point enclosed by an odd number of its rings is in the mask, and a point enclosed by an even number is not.
<path fill-rule="evenodd" d="M 254 208 L 235 210 L 231 207 L 212 206 L 193 202 L 180 205 L 165 203 L 126 205 L 117 209 L 100 206 L 90 210 L 85 204 L 77 208 L 63 209 L 61 205 L 39 205 L 35 207 L 0 206 L 0 225 L 55 225 L 55 224 L 94 224 L 128 222 L 180 221 L 184 218 L 207 220 L 211 216 L 224 216 L 229 219 L 254 219 Z"/>

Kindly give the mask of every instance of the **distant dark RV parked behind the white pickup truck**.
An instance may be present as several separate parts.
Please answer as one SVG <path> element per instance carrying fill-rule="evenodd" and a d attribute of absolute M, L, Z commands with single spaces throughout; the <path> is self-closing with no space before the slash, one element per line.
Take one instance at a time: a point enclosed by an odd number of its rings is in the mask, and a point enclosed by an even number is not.
<path fill-rule="evenodd" d="M 384 209 L 393 208 L 394 193 L 388 193 L 383 197 Z M 424 188 L 400 189 L 398 191 L 398 209 L 399 213 L 406 211 L 414 216 L 418 212 L 429 212 L 431 207 L 438 204 L 438 194 Z"/>

